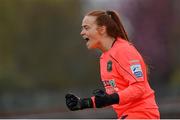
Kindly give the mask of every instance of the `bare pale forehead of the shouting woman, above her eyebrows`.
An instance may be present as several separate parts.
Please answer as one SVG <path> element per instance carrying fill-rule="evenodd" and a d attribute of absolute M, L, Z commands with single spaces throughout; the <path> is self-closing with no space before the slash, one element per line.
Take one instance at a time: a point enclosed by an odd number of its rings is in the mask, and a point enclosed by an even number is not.
<path fill-rule="evenodd" d="M 94 16 L 85 16 L 83 21 L 82 21 L 82 26 L 84 25 L 93 25 L 95 24 L 96 17 Z"/>

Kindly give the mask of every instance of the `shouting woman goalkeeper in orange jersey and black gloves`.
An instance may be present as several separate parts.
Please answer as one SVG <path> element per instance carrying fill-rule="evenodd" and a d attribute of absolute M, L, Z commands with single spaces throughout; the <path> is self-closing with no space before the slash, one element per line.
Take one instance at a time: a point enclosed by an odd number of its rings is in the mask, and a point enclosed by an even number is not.
<path fill-rule="evenodd" d="M 100 74 L 105 91 L 95 90 L 90 98 L 67 94 L 67 107 L 74 111 L 112 105 L 120 119 L 159 119 L 146 64 L 129 41 L 117 12 L 89 12 L 82 21 L 81 35 L 88 49 L 103 52 Z"/>

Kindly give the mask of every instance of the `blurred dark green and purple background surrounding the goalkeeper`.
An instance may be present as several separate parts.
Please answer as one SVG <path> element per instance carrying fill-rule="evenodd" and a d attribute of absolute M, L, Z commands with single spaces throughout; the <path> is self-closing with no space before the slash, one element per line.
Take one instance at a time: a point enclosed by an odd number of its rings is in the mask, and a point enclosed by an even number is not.
<path fill-rule="evenodd" d="M 180 118 L 179 0 L 0 0 L 0 118 L 115 118 L 69 112 L 64 96 L 102 87 L 99 51 L 79 35 L 86 12 L 118 11 L 149 64 L 162 118 Z"/>

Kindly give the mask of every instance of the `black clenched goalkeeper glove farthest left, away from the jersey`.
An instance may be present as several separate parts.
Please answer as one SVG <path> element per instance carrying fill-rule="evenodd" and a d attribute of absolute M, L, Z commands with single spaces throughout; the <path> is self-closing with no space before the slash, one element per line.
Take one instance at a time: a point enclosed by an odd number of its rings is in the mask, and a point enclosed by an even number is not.
<path fill-rule="evenodd" d="M 93 107 L 91 98 L 81 99 L 74 94 L 66 94 L 65 98 L 67 107 L 72 111 Z"/>

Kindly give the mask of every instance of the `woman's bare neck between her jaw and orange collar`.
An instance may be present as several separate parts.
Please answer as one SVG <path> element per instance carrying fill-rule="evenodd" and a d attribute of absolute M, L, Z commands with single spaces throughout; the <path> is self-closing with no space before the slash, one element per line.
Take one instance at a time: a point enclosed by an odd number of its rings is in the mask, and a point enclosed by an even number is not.
<path fill-rule="evenodd" d="M 114 42 L 115 42 L 115 38 L 112 38 L 112 37 L 102 38 L 102 42 L 101 42 L 102 46 L 101 46 L 100 49 L 102 50 L 102 52 L 106 52 L 106 51 L 108 51 L 112 47 Z"/>

